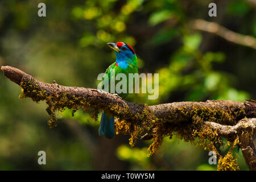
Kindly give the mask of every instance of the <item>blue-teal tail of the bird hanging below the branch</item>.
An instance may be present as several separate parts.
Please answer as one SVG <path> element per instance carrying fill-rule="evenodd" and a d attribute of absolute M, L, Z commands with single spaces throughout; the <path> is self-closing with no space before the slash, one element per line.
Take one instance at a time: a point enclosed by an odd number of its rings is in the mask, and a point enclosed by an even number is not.
<path fill-rule="evenodd" d="M 105 114 L 102 112 L 101 114 L 101 123 L 98 128 L 99 135 L 105 135 L 106 138 L 113 138 L 115 134 L 114 130 L 114 116 Z"/>

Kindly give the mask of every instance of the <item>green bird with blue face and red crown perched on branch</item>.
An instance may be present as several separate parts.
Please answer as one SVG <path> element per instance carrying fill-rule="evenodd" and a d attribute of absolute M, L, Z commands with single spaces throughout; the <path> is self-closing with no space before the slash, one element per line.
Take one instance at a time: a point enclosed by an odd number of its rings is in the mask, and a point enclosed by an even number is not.
<path fill-rule="evenodd" d="M 118 43 L 108 43 L 108 46 L 112 48 L 115 52 L 116 60 L 113 64 L 111 64 L 108 69 L 106 69 L 105 74 L 108 77 L 104 77 L 104 80 L 102 83 L 110 83 L 110 80 L 112 79 L 110 75 L 116 76 L 118 73 L 123 73 L 127 77 L 127 86 L 126 88 L 129 88 L 129 73 L 138 73 L 138 67 L 137 67 L 137 56 L 134 51 L 134 49 L 124 42 L 118 42 Z M 113 77 L 113 76 L 112 76 Z M 104 90 L 106 84 L 102 84 L 101 88 Z M 109 90 L 105 90 L 106 92 L 109 92 Z M 125 98 L 129 92 L 127 90 L 126 93 L 119 93 L 118 96 L 121 98 Z M 117 93 L 114 93 L 117 94 Z M 100 120 L 100 127 L 98 128 L 98 134 L 99 135 L 105 135 L 106 138 L 113 138 L 115 135 L 114 131 L 114 116 L 108 113 L 104 113 L 102 111 L 101 114 L 101 120 Z"/>

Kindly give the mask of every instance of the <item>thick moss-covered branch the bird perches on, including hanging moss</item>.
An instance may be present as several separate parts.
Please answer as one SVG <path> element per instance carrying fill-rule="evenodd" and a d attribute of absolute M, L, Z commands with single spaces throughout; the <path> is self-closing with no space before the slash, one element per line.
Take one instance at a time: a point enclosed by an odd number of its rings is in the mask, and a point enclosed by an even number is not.
<path fill-rule="evenodd" d="M 230 142 L 239 137 L 249 169 L 256 170 L 255 119 L 247 120 L 256 118 L 256 102 L 207 101 L 139 105 L 97 89 L 62 86 L 56 82 L 43 83 L 14 67 L 2 66 L 1 69 L 7 78 L 22 87 L 23 97 L 30 97 L 36 102 L 46 101 L 47 112 L 51 115 L 48 121 L 50 127 L 56 125 L 56 110 L 62 111 L 67 107 L 75 113 L 82 108 L 94 118 L 97 118 L 99 110 L 104 110 L 117 118 L 117 134 L 131 135 L 131 146 L 139 136 L 145 140 L 153 139 L 149 147 L 151 154 L 158 150 L 164 136 L 171 138 L 172 134 L 191 142 L 196 137 L 201 141 L 208 139 L 212 145 L 201 143 L 208 150 L 216 150 L 216 146 L 222 144 L 221 137 Z"/>

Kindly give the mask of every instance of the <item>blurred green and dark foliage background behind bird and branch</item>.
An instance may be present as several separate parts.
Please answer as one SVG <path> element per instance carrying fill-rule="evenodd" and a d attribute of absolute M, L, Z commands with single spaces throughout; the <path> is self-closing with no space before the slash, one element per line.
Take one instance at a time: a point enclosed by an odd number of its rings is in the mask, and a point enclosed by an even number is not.
<path fill-rule="evenodd" d="M 45 18 L 38 16 L 40 2 L 46 3 Z M 208 16 L 211 2 L 217 17 Z M 0 65 L 44 82 L 96 88 L 98 74 L 115 60 L 106 43 L 126 42 L 137 52 L 139 72 L 159 73 L 158 100 L 133 94 L 129 101 L 255 100 L 255 9 L 254 0 L 2 0 Z M 225 31 L 212 33 L 219 25 Z M 65 110 L 49 129 L 46 104 L 22 101 L 20 93 L 0 75 L 1 170 L 216 169 L 208 164 L 208 151 L 176 137 L 164 139 L 150 158 L 150 142 L 138 140 L 131 148 L 129 136 L 99 137 L 99 122 L 82 111 L 71 117 Z M 42 166 L 41 150 L 47 162 Z M 237 158 L 247 170 L 241 151 Z"/>

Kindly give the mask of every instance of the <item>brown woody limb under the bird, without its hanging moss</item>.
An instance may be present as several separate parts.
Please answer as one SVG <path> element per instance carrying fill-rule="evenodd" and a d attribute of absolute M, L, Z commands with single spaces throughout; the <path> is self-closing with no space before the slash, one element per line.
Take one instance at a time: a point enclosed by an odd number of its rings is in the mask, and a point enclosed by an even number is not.
<path fill-rule="evenodd" d="M 236 121 L 239 121 L 241 117 L 256 117 L 256 103 L 254 102 L 236 102 L 236 101 L 207 101 L 207 102 L 172 102 L 168 104 L 145 106 L 134 104 L 133 102 L 127 102 L 122 100 L 121 97 L 114 96 L 108 92 L 104 92 L 97 89 L 90 88 L 79 88 L 73 86 L 62 86 L 56 83 L 48 84 L 36 80 L 31 75 L 20 71 L 17 68 L 10 66 L 2 66 L 1 70 L 4 75 L 11 81 L 20 85 L 26 93 L 26 97 L 31 97 L 34 101 L 47 100 L 47 97 L 67 96 L 68 100 L 72 100 L 73 97 L 83 98 L 86 102 L 89 102 L 90 107 L 97 108 L 100 110 L 108 111 L 117 117 L 134 119 L 136 114 L 142 114 L 144 109 L 148 107 L 151 114 L 154 114 L 158 119 L 164 121 L 179 122 L 184 119 L 188 119 L 189 111 L 195 110 L 195 108 L 201 107 L 204 110 L 220 110 L 224 112 L 234 111 L 230 113 L 233 115 Z M 30 85 L 28 86 L 27 83 Z M 33 92 L 34 90 L 34 92 Z M 28 92 L 27 92 L 28 91 Z M 31 92 L 30 92 L 31 91 Z M 40 91 L 43 94 L 39 95 L 37 92 Z M 62 106 L 70 107 L 67 102 L 63 102 Z M 82 104 L 81 104 L 82 105 Z M 112 107 L 118 105 L 118 109 Z M 70 109 L 70 108 L 69 108 Z M 120 111 L 125 110 L 125 113 Z M 244 113 L 243 113 L 244 111 Z M 186 113 L 187 112 L 187 117 Z M 237 114 L 237 113 L 240 113 Z M 143 118 L 135 117 L 139 121 Z M 228 121 L 226 121 L 228 122 Z"/>

